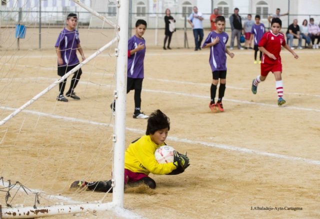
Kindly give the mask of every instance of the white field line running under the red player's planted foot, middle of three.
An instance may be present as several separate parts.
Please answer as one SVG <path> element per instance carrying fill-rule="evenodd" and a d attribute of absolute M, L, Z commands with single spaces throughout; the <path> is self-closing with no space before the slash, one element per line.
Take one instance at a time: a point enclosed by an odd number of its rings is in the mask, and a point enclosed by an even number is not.
<path fill-rule="evenodd" d="M 54 80 L 56 78 L 46 78 L 46 77 L 32 77 L 32 78 L 15 78 L 19 80 L 25 80 L 25 79 L 43 79 L 43 80 Z M 88 84 L 88 85 L 98 85 L 98 86 L 114 86 L 110 84 L 97 84 L 93 82 L 85 82 L 85 81 L 79 81 L 80 84 Z M 143 92 L 152 92 L 152 93 L 164 93 L 164 94 L 174 94 L 179 96 L 187 96 L 187 97 L 194 97 L 194 98 L 201 98 L 201 99 L 209 99 L 208 96 L 204 95 L 197 95 L 197 94 L 188 94 L 188 93 L 182 93 L 182 92 L 174 92 L 174 91 L 163 91 L 163 90 L 151 90 L 151 89 L 142 89 Z M 244 104 L 253 104 L 253 105 L 259 105 L 259 106 L 265 106 L 265 107 L 275 107 L 275 108 L 281 108 L 281 109 L 291 109 L 291 110 L 302 110 L 302 111 L 313 111 L 313 112 L 320 112 L 320 109 L 313 109 L 313 108 L 305 108 L 305 107 L 295 107 L 295 106 L 282 106 L 279 107 L 276 104 L 268 104 L 268 103 L 258 103 L 258 102 L 250 102 L 246 100 L 234 100 L 234 99 L 227 99 L 224 98 L 224 101 L 227 102 L 234 102 L 234 103 L 244 103 Z"/>

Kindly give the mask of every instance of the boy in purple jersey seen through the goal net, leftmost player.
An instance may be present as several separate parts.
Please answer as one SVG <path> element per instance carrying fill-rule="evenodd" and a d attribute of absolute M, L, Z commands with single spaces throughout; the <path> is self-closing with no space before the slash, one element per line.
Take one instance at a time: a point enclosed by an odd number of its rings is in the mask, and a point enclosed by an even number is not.
<path fill-rule="evenodd" d="M 82 61 L 85 60 L 83 50 L 80 45 L 79 33 L 75 29 L 76 23 L 76 14 L 68 14 L 68 16 L 66 17 L 66 26 L 60 32 L 55 43 L 56 54 L 58 56 L 58 75 L 60 77 L 62 77 L 64 74 L 66 74 L 72 68 L 79 64 L 79 60 L 76 56 L 76 50 L 79 51 L 82 57 Z M 80 99 L 75 95 L 74 88 L 80 80 L 81 74 L 81 68 L 77 72 L 74 72 L 71 79 L 70 88 L 65 94 L 67 97 L 71 97 L 75 100 Z M 68 102 L 68 99 L 63 96 L 65 83 L 66 78 L 63 80 L 63 82 L 59 83 L 59 95 L 56 98 L 58 101 Z"/>

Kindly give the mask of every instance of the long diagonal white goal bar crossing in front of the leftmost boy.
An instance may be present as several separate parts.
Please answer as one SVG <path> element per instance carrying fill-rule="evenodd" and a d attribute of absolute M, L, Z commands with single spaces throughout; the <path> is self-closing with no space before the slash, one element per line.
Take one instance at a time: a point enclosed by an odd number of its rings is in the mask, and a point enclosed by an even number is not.
<path fill-rule="evenodd" d="M 20 106 L 18 109 L 16 109 L 14 112 L 12 112 L 10 115 L 8 115 L 7 117 L 5 117 L 3 120 L 0 121 L 0 126 L 2 126 L 3 124 L 5 124 L 8 120 L 10 120 L 11 118 L 13 118 L 15 115 L 17 115 L 19 112 L 21 112 L 23 109 L 25 109 L 26 107 L 30 106 L 34 101 L 36 101 L 37 99 L 39 99 L 41 96 L 43 96 L 45 93 L 47 93 L 49 90 L 51 90 L 53 87 L 55 87 L 56 85 L 58 85 L 60 82 L 62 82 L 65 78 L 69 77 L 71 74 L 73 74 L 74 72 L 76 72 L 78 69 L 80 69 L 83 65 L 85 65 L 86 63 L 88 63 L 91 59 L 93 59 L 94 57 L 96 57 L 97 55 L 99 55 L 103 50 L 107 49 L 108 47 L 110 47 L 113 43 L 115 43 L 117 41 L 117 37 L 114 37 L 110 42 L 108 42 L 107 44 L 105 44 L 104 46 L 102 46 L 101 48 L 99 48 L 96 52 L 94 52 L 93 54 L 91 54 L 88 58 L 86 58 L 84 61 L 80 62 L 77 66 L 75 66 L 72 70 L 68 71 L 65 75 L 63 75 L 61 78 L 59 78 L 58 80 L 54 81 L 52 84 L 50 84 L 47 88 L 45 88 L 44 90 L 42 90 L 40 93 L 38 93 L 37 95 L 35 95 L 34 97 L 32 97 L 29 101 L 27 101 L 26 103 L 24 103 L 22 106 Z"/>

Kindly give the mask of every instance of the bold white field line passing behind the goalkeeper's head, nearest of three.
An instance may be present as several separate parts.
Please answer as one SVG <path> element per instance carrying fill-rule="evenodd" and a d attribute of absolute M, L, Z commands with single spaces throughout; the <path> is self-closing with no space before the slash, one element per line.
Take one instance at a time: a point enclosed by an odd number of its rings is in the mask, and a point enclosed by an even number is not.
<path fill-rule="evenodd" d="M 15 108 L 5 107 L 5 106 L 0 106 L 0 109 L 9 110 L 9 111 L 16 110 Z M 76 118 L 72 118 L 72 117 L 64 117 L 64 116 L 59 116 L 59 115 L 55 115 L 55 114 L 37 112 L 37 111 L 33 111 L 33 110 L 24 110 L 23 112 L 33 114 L 36 116 L 46 116 L 46 117 L 50 117 L 50 118 L 54 118 L 54 119 L 63 119 L 63 120 L 71 121 L 71 122 L 113 127 L 112 124 L 108 124 L 108 123 L 94 122 L 94 121 L 90 121 L 90 120 L 76 119 Z M 128 127 L 126 127 L 125 129 L 130 132 L 138 133 L 138 134 L 143 134 L 145 132 L 144 130 L 128 128 Z M 180 143 L 187 143 L 187 144 L 192 144 L 192 145 L 199 144 L 199 145 L 203 145 L 203 146 L 207 146 L 207 147 L 219 148 L 219 149 L 229 150 L 229 151 L 237 151 L 237 152 L 241 152 L 241 153 L 245 153 L 245 154 L 255 154 L 255 155 L 280 158 L 280 159 L 285 159 L 285 160 L 290 160 L 290 161 L 302 161 L 302 162 L 305 162 L 307 164 L 312 164 L 312 165 L 320 165 L 320 161 L 317 161 L 317 160 L 305 159 L 305 158 L 300 158 L 300 157 L 291 157 L 291 156 L 274 154 L 274 153 L 269 153 L 269 152 L 251 150 L 251 149 L 242 148 L 242 147 L 222 145 L 222 144 L 216 144 L 216 143 L 210 143 L 210 142 L 204 142 L 204 141 L 193 141 L 193 140 L 189 140 L 186 138 L 177 138 L 174 136 L 168 137 L 167 139 L 170 141 L 175 141 L 175 142 L 180 142 Z"/>

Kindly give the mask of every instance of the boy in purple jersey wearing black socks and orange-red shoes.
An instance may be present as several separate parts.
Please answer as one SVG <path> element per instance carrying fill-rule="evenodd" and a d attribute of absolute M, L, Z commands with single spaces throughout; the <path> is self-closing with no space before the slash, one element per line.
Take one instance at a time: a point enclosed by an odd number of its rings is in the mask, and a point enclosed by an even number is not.
<path fill-rule="evenodd" d="M 211 83 L 211 101 L 209 108 L 211 112 L 216 113 L 218 111 L 223 112 L 222 97 L 225 91 L 225 77 L 226 77 L 226 54 L 233 58 L 234 54 L 226 48 L 226 42 L 228 41 L 228 34 L 223 32 L 225 26 L 224 16 L 217 16 L 215 18 L 216 30 L 209 33 L 206 37 L 202 48 L 210 47 L 209 64 L 212 70 L 212 83 Z M 214 98 L 216 93 L 216 86 L 220 78 L 219 97 L 215 104 Z"/>

